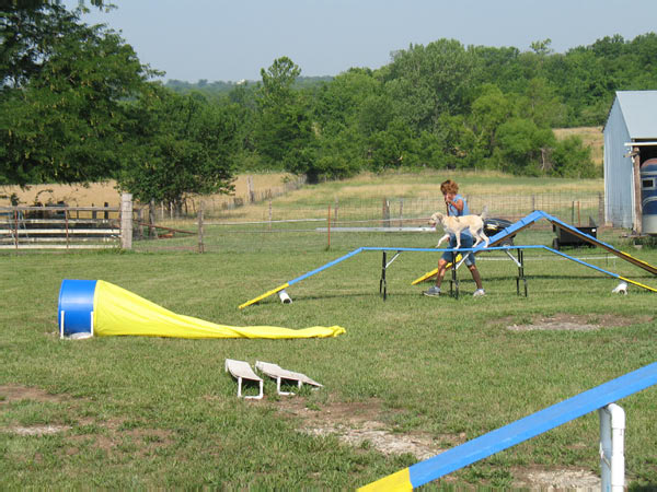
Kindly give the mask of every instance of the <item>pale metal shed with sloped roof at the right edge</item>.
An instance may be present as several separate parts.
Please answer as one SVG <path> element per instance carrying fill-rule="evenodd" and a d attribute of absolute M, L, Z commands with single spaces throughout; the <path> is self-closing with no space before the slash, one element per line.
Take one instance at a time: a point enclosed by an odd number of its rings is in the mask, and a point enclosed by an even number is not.
<path fill-rule="evenodd" d="M 657 91 L 618 91 L 603 133 L 604 221 L 641 233 L 641 165 L 657 157 Z"/>

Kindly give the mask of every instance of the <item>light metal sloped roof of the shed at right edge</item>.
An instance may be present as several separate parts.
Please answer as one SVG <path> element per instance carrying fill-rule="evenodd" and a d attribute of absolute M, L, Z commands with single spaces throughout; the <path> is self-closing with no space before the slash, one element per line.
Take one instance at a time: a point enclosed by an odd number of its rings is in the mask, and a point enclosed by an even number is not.
<path fill-rule="evenodd" d="M 616 91 L 630 138 L 657 140 L 657 91 Z"/>

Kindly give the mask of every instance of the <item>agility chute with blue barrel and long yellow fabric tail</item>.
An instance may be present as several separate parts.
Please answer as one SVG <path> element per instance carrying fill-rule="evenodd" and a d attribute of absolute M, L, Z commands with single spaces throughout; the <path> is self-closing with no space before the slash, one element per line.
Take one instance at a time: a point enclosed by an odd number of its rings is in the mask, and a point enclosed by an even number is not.
<path fill-rule="evenodd" d="M 99 337 L 136 335 L 174 338 L 325 338 L 345 332 L 339 326 L 300 330 L 276 326 L 234 327 L 175 314 L 103 280 L 61 282 L 59 333 Z"/>

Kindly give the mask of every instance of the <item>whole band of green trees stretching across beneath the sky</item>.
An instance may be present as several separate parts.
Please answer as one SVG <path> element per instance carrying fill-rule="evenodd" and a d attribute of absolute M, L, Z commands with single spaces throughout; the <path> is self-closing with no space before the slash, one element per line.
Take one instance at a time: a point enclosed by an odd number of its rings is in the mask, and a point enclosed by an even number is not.
<path fill-rule="evenodd" d="M 261 169 L 592 177 L 581 140 L 552 128 L 601 125 L 614 91 L 657 85 L 654 33 L 566 54 L 550 39 L 527 51 L 438 39 L 376 70 L 303 78 L 281 57 L 255 82 L 165 85 L 117 33 L 57 2 L 0 3 L 0 185 L 115 178 L 173 206 Z"/>

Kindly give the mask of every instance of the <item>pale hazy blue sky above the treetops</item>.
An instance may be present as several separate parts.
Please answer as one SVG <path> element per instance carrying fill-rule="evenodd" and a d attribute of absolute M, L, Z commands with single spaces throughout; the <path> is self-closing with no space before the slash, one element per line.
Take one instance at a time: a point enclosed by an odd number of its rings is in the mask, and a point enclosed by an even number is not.
<path fill-rule="evenodd" d="M 83 20 L 120 31 L 164 80 L 260 80 L 281 56 L 302 75 L 379 68 L 391 51 L 453 38 L 463 45 L 554 51 L 657 31 L 656 0 L 111 0 Z M 78 0 L 64 0 L 76 7 Z M 87 2 L 89 4 L 89 1 Z"/>

